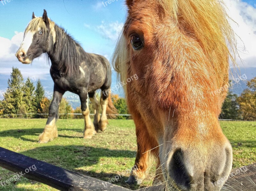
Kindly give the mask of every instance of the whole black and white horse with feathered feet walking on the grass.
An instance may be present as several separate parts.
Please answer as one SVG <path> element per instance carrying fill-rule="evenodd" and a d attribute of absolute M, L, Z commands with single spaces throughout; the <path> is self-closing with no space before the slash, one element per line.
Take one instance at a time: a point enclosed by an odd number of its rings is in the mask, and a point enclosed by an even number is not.
<path fill-rule="evenodd" d="M 107 113 L 116 113 L 111 97 L 111 67 L 108 60 L 97 54 L 87 53 L 63 28 L 48 19 L 44 10 L 43 17 L 35 17 L 29 22 L 23 42 L 16 57 L 23 64 L 30 64 L 33 59 L 47 53 L 51 60 L 50 74 L 54 82 L 53 100 L 44 132 L 39 136 L 40 143 L 47 143 L 58 136 L 56 121 L 63 94 L 66 91 L 79 95 L 85 127 L 84 138 L 92 138 L 98 131 L 107 127 Z M 102 115 L 100 103 L 95 91 L 101 89 Z M 90 119 L 87 94 L 94 108 L 94 122 Z"/>

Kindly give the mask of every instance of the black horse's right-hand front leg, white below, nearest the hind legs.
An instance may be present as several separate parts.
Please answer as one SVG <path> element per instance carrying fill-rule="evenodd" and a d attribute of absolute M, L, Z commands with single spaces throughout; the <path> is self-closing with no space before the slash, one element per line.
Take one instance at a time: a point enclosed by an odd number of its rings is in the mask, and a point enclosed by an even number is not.
<path fill-rule="evenodd" d="M 96 134 L 94 125 L 90 118 L 90 110 L 87 101 L 87 91 L 79 94 L 80 101 L 81 101 L 81 109 L 82 114 L 84 115 L 84 139 L 90 139 L 94 134 Z"/>

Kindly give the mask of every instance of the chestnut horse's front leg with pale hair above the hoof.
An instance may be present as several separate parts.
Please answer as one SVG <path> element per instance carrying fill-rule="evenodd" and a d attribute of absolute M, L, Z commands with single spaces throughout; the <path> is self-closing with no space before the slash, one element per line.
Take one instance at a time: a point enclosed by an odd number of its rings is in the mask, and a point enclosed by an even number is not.
<path fill-rule="evenodd" d="M 142 180 L 145 178 L 145 174 L 148 169 L 149 151 L 157 147 L 157 141 L 149 135 L 147 131 L 147 126 L 141 118 L 140 114 L 133 115 L 133 120 L 136 126 L 138 150 L 135 164 L 132 168 L 131 175 L 127 180 L 127 183 L 141 184 Z M 158 152 L 158 149 L 153 149 L 150 152 Z"/>

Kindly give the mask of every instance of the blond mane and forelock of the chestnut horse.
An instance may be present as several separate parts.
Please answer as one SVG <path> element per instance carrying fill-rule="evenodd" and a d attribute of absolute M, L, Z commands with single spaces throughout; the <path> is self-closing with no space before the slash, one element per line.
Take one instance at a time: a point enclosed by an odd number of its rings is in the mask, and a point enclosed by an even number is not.
<path fill-rule="evenodd" d="M 201 45 L 204 56 L 212 64 L 212 68 L 214 68 L 215 75 L 221 76 L 219 88 L 223 86 L 223 81 L 227 79 L 227 75 L 223 75 L 223 70 L 228 70 L 229 68 L 228 58 L 236 65 L 236 40 L 227 19 L 228 15 L 224 8 L 225 5 L 221 0 L 216 0 L 216 2 L 203 0 L 133 2 L 133 5 L 129 6 L 123 34 L 120 36 L 113 57 L 114 68 L 121 74 L 121 77 L 125 76 L 124 73 L 127 72 L 128 60 L 132 57 L 127 51 L 128 42 L 125 40 L 128 28 L 138 28 L 138 26 L 133 26 L 131 23 L 136 20 L 142 20 L 143 17 L 156 17 L 155 12 L 161 7 L 158 12 L 161 12 L 162 20 L 172 20 L 181 33 L 188 34 L 188 28 L 191 30 L 190 35 L 193 35 Z M 159 15 L 159 13 L 157 14 Z M 133 18 L 134 15 L 136 15 L 136 18 Z M 154 25 L 154 23 L 152 24 L 152 19 L 147 24 Z M 157 33 L 156 31 L 154 32 Z"/>

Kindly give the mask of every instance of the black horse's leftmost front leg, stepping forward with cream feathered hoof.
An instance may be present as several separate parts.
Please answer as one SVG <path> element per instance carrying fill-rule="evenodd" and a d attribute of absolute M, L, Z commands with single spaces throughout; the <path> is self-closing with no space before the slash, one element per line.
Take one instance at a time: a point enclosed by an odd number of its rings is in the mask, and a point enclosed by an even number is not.
<path fill-rule="evenodd" d="M 52 141 L 54 138 L 58 137 L 56 121 L 58 119 L 58 110 L 63 94 L 64 92 L 60 91 L 54 85 L 53 99 L 49 107 L 48 119 L 44 127 L 44 132 L 39 135 L 39 143 L 48 143 L 48 141 Z"/>

